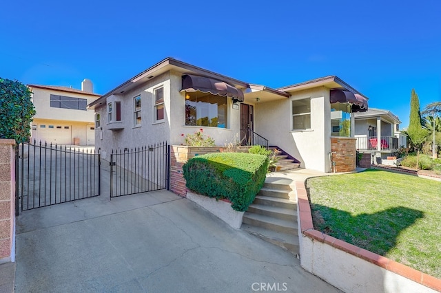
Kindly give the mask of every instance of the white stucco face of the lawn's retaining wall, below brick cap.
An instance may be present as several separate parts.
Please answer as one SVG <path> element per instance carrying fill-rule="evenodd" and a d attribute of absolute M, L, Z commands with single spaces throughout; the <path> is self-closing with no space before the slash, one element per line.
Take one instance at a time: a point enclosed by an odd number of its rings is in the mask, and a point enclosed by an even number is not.
<path fill-rule="evenodd" d="M 302 268 L 347 293 L 434 293 L 429 287 L 352 254 L 300 236 Z"/>

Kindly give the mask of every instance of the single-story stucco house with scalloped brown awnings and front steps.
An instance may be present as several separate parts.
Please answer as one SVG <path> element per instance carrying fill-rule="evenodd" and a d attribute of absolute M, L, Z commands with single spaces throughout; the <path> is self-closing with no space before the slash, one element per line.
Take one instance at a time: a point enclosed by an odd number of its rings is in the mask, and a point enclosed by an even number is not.
<path fill-rule="evenodd" d="M 300 167 L 331 172 L 355 169 L 354 113 L 367 111 L 367 100 L 337 76 L 271 89 L 165 58 L 89 107 L 103 158 L 112 149 L 181 145 L 183 135 L 203 129 L 216 145 L 265 139 Z M 348 113 L 347 137 L 333 132 L 334 112 Z"/>

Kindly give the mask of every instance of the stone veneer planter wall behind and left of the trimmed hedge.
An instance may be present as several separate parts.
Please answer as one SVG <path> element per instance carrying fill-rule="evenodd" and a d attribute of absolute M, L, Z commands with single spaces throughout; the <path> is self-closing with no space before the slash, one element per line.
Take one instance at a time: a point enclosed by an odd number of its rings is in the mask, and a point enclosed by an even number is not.
<path fill-rule="evenodd" d="M 239 146 L 236 151 L 247 152 L 248 146 Z M 187 197 L 187 187 L 182 166 L 196 155 L 222 153 L 227 151 L 223 146 L 172 146 L 170 149 L 170 191 L 181 197 Z"/>

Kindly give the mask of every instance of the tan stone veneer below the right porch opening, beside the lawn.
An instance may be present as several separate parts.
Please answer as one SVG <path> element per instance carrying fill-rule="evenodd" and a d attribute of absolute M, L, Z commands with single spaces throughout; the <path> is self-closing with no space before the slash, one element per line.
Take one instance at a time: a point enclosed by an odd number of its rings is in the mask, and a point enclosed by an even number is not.
<path fill-rule="evenodd" d="M 351 172 L 356 170 L 356 138 L 331 138 L 331 152 L 334 166 L 331 172 Z"/>

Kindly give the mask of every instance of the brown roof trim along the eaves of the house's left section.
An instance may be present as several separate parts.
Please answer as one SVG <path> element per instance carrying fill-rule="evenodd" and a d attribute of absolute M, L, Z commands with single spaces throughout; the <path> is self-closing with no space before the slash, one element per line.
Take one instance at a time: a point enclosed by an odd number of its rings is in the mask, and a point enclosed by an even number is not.
<path fill-rule="evenodd" d="M 234 78 L 230 78 L 228 76 L 223 76 L 222 74 L 216 74 L 216 72 L 211 72 L 207 69 L 203 69 L 201 67 L 197 67 L 197 66 L 191 65 L 189 63 L 178 61 L 172 57 L 167 57 L 167 58 L 163 59 L 162 61 L 159 61 L 158 63 L 156 63 L 152 67 L 145 69 L 143 72 L 136 74 L 136 76 L 130 78 L 125 83 L 122 83 L 118 87 L 115 87 L 111 91 L 107 92 L 107 94 L 104 94 L 103 96 L 101 96 L 101 98 L 94 100 L 94 102 L 91 102 L 90 105 L 88 105 L 88 107 L 92 107 L 94 105 L 99 104 L 99 102 L 102 102 L 108 96 L 112 96 L 112 94 L 120 93 L 121 89 L 123 89 L 125 86 L 130 85 L 132 83 L 135 83 L 137 80 L 140 80 L 144 76 L 152 75 L 158 69 L 161 69 L 167 65 L 172 65 L 172 66 L 180 67 L 183 69 L 187 69 L 187 70 L 189 70 L 189 73 L 194 72 L 196 74 L 201 74 L 201 75 L 206 76 L 208 78 L 216 78 L 219 80 L 223 80 L 226 83 L 232 83 L 234 85 L 239 85 L 241 87 L 249 87 L 248 83 L 244 83 L 243 81 L 240 81 L 240 80 L 237 80 Z"/>

